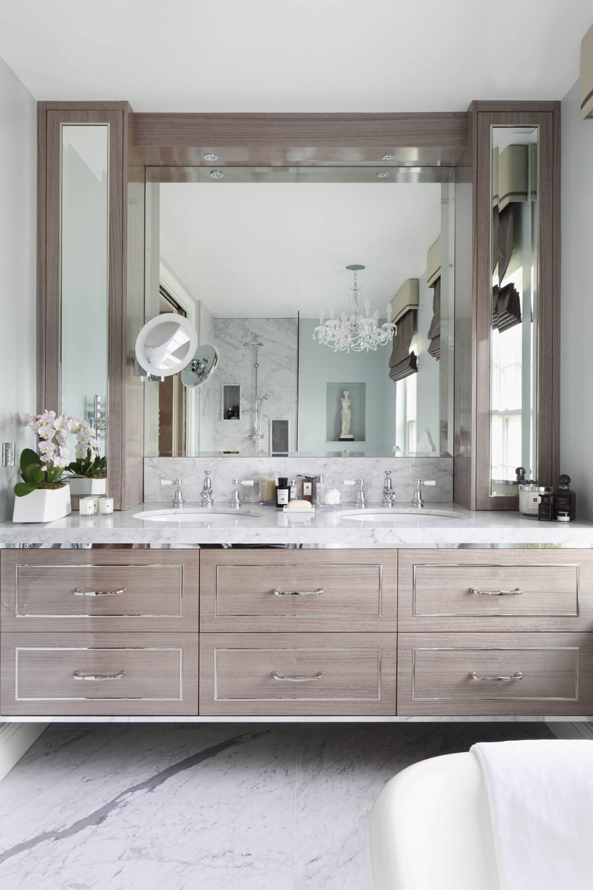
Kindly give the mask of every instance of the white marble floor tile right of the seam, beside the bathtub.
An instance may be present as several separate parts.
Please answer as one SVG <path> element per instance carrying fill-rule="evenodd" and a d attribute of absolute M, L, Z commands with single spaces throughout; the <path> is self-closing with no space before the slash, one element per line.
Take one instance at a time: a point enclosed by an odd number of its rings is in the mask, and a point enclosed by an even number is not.
<path fill-rule="evenodd" d="M 477 741 L 532 738 L 551 733 L 544 724 L 301 726 L 293 890 L 369 890 L 371 808 L 406 766 Z"/>

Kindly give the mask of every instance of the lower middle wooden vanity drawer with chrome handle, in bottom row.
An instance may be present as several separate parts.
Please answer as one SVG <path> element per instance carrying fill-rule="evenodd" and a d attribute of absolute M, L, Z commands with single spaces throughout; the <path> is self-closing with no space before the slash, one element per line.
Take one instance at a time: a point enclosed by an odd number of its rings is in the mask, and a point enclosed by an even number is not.
<path fill-rule="evenodd" d="M 395 634 L 200 634 L 200 714 L 396 713 Z"/>

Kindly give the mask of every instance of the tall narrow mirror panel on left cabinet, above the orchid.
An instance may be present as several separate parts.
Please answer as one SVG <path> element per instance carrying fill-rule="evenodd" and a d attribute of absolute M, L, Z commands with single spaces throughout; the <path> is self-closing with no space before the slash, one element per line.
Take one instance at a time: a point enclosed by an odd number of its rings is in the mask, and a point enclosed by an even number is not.
<path fill-rule="evenodd" d="M 108 434 L 108 169 L 108 124 L 60 126 L 60 409 L 96 430 L 101 457 Z"/>

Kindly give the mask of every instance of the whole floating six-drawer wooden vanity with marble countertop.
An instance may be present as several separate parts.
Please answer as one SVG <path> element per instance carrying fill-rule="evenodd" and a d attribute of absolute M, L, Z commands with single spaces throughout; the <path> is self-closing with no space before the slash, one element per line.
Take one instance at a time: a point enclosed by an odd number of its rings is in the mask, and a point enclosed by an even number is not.
<path fill-rule="evenodd" d="M 593 713 L 593 523 L 139 512 L 0 525 L 4 718 Z"/>

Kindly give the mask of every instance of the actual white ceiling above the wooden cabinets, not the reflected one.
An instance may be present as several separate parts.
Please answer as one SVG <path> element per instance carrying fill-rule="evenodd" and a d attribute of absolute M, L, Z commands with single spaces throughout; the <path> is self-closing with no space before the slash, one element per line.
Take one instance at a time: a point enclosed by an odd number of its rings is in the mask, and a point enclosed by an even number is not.
<path fill-rule="evenodd" d="M 136 111 L 438 111 L 561 99 L 591 0 L 2 0 L 38 100 Z"/>

